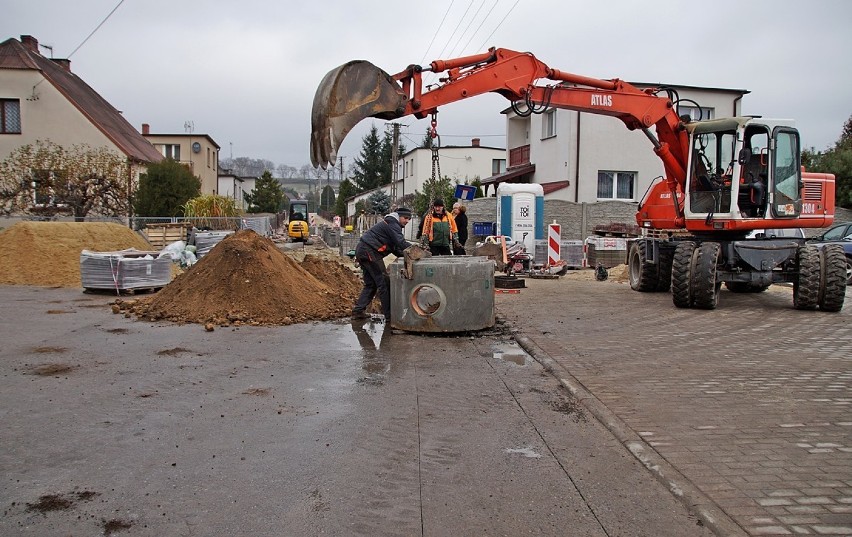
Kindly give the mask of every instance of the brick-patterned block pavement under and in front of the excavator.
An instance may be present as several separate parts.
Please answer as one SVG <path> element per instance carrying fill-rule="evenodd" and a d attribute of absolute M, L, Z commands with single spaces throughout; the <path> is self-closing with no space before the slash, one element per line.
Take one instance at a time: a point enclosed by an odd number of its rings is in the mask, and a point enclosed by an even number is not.
<path fill-rule="evenodd" d="M 852 297 L 723 289 L 713 311 L 624 283 L 528 280 L 498 312 L 747 535 L 852 535 Z"/>

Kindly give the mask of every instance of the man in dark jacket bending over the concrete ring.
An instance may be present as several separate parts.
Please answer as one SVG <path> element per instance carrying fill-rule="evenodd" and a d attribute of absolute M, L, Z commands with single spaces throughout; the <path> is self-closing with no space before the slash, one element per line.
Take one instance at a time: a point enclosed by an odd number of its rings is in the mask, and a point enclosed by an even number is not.
<path fill-rule="evenodd" d="M 355 247 L 355 259 L 364 272 L 364 288 L 352 308 L 352 319 L 366 319 L 367 308 L 376 294 L 382 303 L 382 313 L 390 322 L 390 277 L 384 258 L 389 254 L 402 257 L 408 248 L 408 241 L 402 235 L 402 228 L 411 220 L 411 210 L 400 207 L 396 212 L 368 229 Z"/>

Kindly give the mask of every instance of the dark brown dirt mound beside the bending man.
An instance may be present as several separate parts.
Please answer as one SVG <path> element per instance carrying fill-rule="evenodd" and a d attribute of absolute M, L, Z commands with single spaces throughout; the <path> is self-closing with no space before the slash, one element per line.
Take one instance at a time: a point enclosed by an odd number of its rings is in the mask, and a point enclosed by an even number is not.
<path fill-rule="evenodd" d="M 287 325 L 349 315 L 360 288 L 337 261 L 307 256 L 299 265 L 271 240 L 242 230 L 153 297 L 117 300 L 114 310 L 211 328 Z"/>

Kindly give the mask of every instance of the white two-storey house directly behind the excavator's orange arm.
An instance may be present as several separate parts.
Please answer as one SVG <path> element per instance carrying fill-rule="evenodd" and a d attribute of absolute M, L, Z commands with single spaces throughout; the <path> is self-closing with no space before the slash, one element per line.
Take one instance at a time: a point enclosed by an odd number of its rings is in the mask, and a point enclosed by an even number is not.
<path fill-rule="evenodd" d="M 633 83 L 639 88 L 663 85 Z M 665 85 L 680 99 L 678 112 L 693 119 L 740 115 L 747 90 Z M 663 165 L 641 131 L 619 119 L 551 108 L 543 114 L 506 115 L 506 172 L 483 181 L 486 195 L 501 182 L 540 183 L 545 199 L 593 203 L 639 201 L 663 174 Z M 653 130 L 653 129 L 652 129 Z"/>

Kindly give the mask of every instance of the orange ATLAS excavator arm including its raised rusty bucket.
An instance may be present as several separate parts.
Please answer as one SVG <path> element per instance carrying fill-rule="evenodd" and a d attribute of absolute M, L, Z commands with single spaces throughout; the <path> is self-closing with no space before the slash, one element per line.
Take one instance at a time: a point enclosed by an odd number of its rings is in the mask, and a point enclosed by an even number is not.
<path fill-rule="evenodd" d="M 424 91 L 423 72 L 444 73 L 440 85 Z M 543 85 L 540 81 L 550 80 Z M 368 117 L 425 118 L 438 107 L 483 93 L 499 93 L 513 103 L 543 111 L 552 106 L 620 119 L 642 130 L 663 162 L 672 199 L 686 180 L 688 135 L 672 101 L 619 79 L 600 80 L 552 69 L 530 53 L 490 49 L 483 54 L 411 65 L 389 75 L 356 60 L 330 71 L 320 83 L 311 113 L 311 162 L 333 166 L 349 131 Z M 651 131 L 656 128 L 656 135 Z M 680 217 L 681 208 L 675 203 Z"/>

